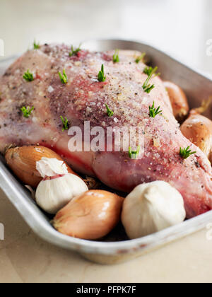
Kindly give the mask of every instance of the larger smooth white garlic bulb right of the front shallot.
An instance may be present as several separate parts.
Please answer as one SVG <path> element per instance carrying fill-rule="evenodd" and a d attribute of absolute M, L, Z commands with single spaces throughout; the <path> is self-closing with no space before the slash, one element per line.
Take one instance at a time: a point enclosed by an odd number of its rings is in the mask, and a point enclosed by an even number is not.
<path fill-rule="evenodd" d="M 131 239 L 156 233 L 186 217 L 182 195 L 167 182 L 139 185 L 125 199 L 122 223 Z"/>

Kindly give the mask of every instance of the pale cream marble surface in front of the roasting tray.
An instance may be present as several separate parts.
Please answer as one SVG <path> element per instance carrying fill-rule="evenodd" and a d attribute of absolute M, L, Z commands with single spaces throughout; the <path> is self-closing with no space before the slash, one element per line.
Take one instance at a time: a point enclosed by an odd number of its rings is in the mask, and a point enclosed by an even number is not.
<path fill-rule="evenodd" d="M 211 282 L 212 240 L 206 230 L 124 264 L 103 266 L 37 238 L 0 192 L 1 282 Z"/>

